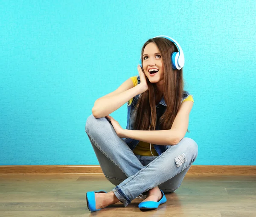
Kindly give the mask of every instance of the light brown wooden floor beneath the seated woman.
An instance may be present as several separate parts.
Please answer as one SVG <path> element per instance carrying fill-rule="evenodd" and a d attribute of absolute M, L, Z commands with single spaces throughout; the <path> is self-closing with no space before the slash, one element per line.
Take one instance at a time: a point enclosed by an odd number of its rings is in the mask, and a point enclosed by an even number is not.
<path fill-rule="evenodd" d="M 87 191 L 114 186 L 102 174 L 0 175 L 0 217 L 256 217 L 256 175 L 186 175 L 156 210 L 140 211 L 135 199 L 91 213 Z"/>

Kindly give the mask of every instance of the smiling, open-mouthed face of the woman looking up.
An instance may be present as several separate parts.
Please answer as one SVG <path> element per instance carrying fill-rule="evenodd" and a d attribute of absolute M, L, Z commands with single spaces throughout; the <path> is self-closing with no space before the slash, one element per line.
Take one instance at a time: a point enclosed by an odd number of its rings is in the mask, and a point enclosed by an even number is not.
<path fill-rule="evenodd" d="M 143 51 L 143 70 L 151 83 L 163 80 L 163 60 L 155 43 L 149 43 Z M 155 70 L 154 70 L 155 69 Z M 158 70 L 158 71 L 157 71 Z M 150 71 L 152 71 L 151 74 Z"/>

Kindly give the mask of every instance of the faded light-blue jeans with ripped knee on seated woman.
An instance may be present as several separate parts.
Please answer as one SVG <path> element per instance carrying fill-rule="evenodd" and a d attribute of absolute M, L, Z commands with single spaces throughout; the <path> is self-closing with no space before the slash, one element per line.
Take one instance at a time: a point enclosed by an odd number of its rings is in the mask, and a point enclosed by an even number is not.
<path fill-rule="evenodd" d="M 105 117 L 90 115 L 85 131 L 105 177 L 116 186 L 112 191 L 124 206 L 156 186 L 165 193 L 174 192 L 198 155 L 197 143 L 187 137 L 156 158 L 135 155 Z"/>

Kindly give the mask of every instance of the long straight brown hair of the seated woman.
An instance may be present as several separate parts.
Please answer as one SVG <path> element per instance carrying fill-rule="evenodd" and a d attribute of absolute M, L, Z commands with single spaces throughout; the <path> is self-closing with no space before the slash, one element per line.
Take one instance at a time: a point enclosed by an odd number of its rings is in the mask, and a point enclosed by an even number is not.
<path fill-rule="evenodd" d="M 149 43 L 156 44 L 163 61 L 163 97 L 167 108 L 159 119 L 159 130 L 167 130 L 171 129 L 177 111 L 181 105 L 184 87 L 183 70 L 172 69 L 171 54 L 173 52 L 178 52 L 178 49 L 174 43 L 162 37 L 152 38 L 145 42 L 141 51 L 142 63 L 145 46 Z M 143 73 L 145 74 L 144 70 Z M 155 130 L 157 124 L 155 96 L 158 94 L 158 91 L 156 84 L 150 83 L 148 77 L 146 75 L 145 77 L 148 83 L 148 91 L 141 93 L 138 99 L 136 106 L 137 114 L 134 127 L 136 130 Z"/>

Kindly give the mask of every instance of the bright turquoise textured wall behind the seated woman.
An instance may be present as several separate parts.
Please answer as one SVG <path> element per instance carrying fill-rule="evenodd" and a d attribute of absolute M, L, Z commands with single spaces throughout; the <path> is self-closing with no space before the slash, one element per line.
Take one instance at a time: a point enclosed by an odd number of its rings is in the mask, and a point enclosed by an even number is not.
<path fill-rule="evenodd" d="M 98 164 L 93 103 L 160 34 L 185 54 L 194 165 L 256 165 L 255 20 L 255 0 L 1 1 L 0 165 Z M 123 128 L 126 111 L 111 114 Z"/>

